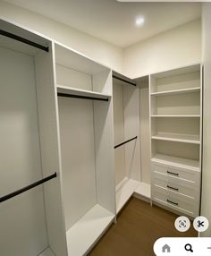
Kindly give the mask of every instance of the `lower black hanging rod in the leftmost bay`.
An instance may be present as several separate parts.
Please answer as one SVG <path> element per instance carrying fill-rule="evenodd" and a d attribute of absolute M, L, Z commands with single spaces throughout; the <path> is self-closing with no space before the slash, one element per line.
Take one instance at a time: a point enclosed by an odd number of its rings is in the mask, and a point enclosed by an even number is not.
<path fill-rule="evenodd" d="M 0 198 L 0 202 L 3 202 L 3 201 L 7 201 L 19 194 L 21 194 L 22 192 L 26 192 L 26 191 L 29 191 L 30 189 L 34 188 L 34 187 L 37 187 L 38 185 L 42 184 L 42 183 L 46 183 L 47 181 L 51 180 L 51 179 L 54 179 L 56 177 L 56 173 L 54 175 L 50 175 L 44 179 L 41 179 L 39 180 L 38 182 L 36 183 L 31 183 L 30 185 L 26 186 L 26 187 L 23 187 L 21 188 L 20 190 L 17 190 L 15 192 L 11 192 L 7 195 L 4 195 L 3 197 Z"/>

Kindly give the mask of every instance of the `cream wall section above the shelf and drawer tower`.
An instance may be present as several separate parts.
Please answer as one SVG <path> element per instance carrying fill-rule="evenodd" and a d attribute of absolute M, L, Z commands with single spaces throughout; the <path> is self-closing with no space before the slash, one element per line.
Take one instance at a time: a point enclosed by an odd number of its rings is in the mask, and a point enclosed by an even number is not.
<path fill-rule="evenodd" d="M 124 49 L 131 78 L 201 62 L 201 21 L 191 21 Z"/>

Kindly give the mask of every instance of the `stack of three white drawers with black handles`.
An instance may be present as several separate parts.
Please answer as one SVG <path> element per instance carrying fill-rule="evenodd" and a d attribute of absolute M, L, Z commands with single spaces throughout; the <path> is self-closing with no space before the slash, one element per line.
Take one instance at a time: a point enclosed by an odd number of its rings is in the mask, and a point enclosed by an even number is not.
<path fill-rule="evenodd" d="M 198 216 L 200 172 L 151 164 L 152 201 L 191 217 Z"/>

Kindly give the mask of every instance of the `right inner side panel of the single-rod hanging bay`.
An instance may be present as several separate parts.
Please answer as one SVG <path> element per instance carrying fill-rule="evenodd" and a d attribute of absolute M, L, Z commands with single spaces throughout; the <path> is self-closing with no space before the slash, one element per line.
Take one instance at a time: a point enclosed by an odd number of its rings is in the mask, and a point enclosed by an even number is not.
<path fill-rule="evenodd" d="M 101 73 L 106 93 L 112 94 L 112 73 Z M 93 87 L 97 88 L 100 74 L 93 75 Z M 115 214 L 114 184 L 114 131 L 112 98 L 108 102 L 94 101 L 97 202 Z"/>

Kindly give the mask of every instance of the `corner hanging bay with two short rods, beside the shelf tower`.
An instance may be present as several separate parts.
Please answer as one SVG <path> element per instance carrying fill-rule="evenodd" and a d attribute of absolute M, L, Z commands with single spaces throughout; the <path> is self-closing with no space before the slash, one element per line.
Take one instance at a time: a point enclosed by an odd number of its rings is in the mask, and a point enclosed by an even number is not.
<path fill-rule="evenodd" d="M 143 86 L 143 87 L 142 87 Z M 141 90 L 140 90 L 141 88 Z M 147 89 L 146 89 L 147 88 Z M 146 90 L 144 90 L 146 89 Z M 140 92 L 144 93 L 140 119 Z M 135 195 L 140 199 L 150 199 L 150 159 L 145 157 L 149 150 L 148 124 L 148 77 L 132 81 L 119 73 L 113 73 L 114 104 L 114 173 L 116 192 L 116 212 Z M 145 111 L 147 111 L 145 113 Z M 146 127 L 145 127 L 145 126 Z M 140 131 L 141 129 L 141 131 Z M 142 134 L 147 132 L 147 134 Z M 148 149 L 141 155 L 141 137 L 145 137 Z M 149 155 L 148 155 L 149 156 Z M 142 168 L 144 170 L 142 171 Z"/>

